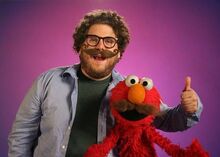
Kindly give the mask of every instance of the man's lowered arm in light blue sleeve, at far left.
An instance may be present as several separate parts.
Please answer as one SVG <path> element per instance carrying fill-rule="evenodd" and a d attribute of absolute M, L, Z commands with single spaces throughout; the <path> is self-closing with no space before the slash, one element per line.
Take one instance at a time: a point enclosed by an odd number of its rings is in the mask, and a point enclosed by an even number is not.
<path fill-rule="evenodd" d="M 33 149 L 40 134 L 40 91 L 42 88 L 39 82 L 34 82 L 16 114 L 16 119 L 8 138 L 9 157 L 33 156 Z"/>

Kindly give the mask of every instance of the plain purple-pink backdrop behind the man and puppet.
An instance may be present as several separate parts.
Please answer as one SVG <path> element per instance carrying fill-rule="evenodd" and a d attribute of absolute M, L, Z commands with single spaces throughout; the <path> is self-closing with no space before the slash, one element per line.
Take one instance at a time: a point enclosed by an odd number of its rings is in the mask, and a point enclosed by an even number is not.
<path fill-rule="evenodd" d="M 204 104 L 201 121 L 177 133 L 162 133 L 185 147 L 196 137 L 211 156 L 220 156 L 220 1 L 212 0 L 17 0 L 0 2 L 0 156 L 19 104 L 33 80 L 52 67 L 78 62 L 72 32 L 97 8 L 125 17 L 131 32 L 117 70 L 151 77 L 163 100 L 179 103 L 184 79 Z M 157 147 L 159 156 L 166 156 Z"/>

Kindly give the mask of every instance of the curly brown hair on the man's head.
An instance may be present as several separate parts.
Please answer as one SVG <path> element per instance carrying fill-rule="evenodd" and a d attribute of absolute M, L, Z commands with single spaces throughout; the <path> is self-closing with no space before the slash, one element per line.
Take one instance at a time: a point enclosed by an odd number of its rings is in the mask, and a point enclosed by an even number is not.
<path fill-rule="evenodd" d="M 122 55 L 129 43 L 130 34 L 124 18 L 116 11 L 111 10 L 94 10 L 84 16 L 75 28 L 75 32 L 73 34 L 73 48 L 76 52 L 79 52 L 80 47 L 86 39 L 89 28 L 94 24 L 107 24 L 113 28 L 114 33 L 118 38 L 118 49 Z"/>

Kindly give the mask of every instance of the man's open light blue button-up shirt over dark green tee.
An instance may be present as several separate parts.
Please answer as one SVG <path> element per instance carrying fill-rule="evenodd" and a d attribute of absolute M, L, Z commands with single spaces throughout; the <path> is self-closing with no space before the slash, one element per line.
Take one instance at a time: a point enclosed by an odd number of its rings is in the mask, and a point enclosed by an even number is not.
<path fill-rule="evenodd" d="M 76 111 L 78 68 L 79 65 L 55 68 L 35 80 L 9 134 L 9 157 L 65 157 Z M 112 72 L 112 78 L 99 111 L 98 142 L 114 125 L 108 104 L 110 90 L 124 79 L 116 71 Z M 199 121 L 202 104 L 199 101 L 199 110 L 191 116 L 180 105 L 171 109 L 161 103 L 161 110 L 166 114 L 155 120 L 155 126 L 165 131 L 182 131 Z M 111 151 L 109 157 L 113 156 Z"/>

